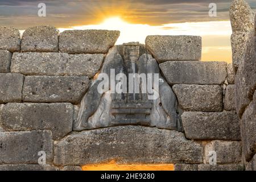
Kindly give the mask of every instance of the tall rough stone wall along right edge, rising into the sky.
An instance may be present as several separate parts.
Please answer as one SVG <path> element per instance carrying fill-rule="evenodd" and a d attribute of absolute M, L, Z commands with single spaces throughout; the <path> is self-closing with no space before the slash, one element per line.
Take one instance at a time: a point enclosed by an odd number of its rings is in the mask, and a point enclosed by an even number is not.
<path fill-rule="evenodd" d="M 233 67 L 236 70 L 236 110 L 241 122 L 242 159 L 246 170 L 256 170 L 256 22 L 249 5 L 233 1 L 230 20 Z"/>

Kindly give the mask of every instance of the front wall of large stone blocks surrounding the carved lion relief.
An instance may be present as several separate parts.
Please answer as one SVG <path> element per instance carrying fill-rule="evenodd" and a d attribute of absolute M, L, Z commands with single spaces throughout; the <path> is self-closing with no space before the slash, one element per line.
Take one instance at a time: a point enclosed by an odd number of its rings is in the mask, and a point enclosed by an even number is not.
<path fill-rule="evenodd" d="M 20 39 L 15 28 L 0 27 L 0 170 L 79 170 L 112 159 L 175 170 L 243 169 L 232 65 L 200 61 L 198 36 L 148 36 L 139 45 L 174 91 L 184 131 L 143 123 L 74 130 L 82 97 L 118 36 L 39 26 Z M 46 152 L 44 166 L 39 151 Z M 209 151 L 216 151 L 216 165 Z"/>

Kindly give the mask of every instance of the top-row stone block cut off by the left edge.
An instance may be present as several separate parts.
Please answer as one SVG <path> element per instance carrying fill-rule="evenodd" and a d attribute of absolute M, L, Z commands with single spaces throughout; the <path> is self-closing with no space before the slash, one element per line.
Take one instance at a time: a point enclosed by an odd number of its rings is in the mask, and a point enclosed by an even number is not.
<path fill-rule="evenodd" d="M 0 49 L 10 52 L 20 51 L 20 33 L 18 29 L 0 26 Z"/>

